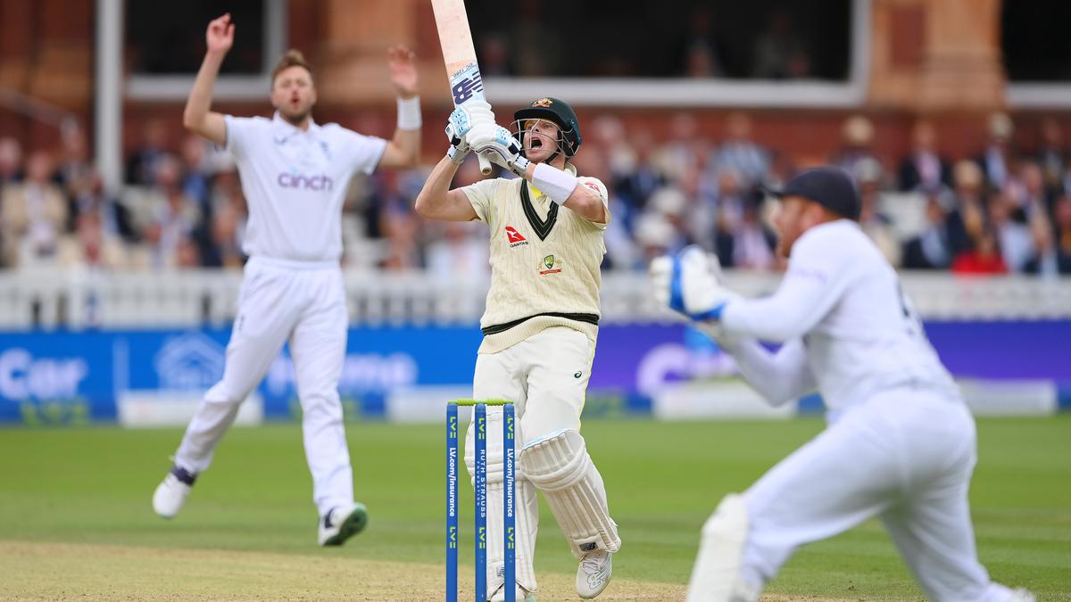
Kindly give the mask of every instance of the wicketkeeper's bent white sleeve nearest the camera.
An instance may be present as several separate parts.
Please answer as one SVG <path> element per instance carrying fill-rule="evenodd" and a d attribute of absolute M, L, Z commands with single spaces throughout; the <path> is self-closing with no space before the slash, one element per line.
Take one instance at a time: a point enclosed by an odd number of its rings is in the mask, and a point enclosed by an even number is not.
<path fill-rule="evenodd" d="M 770 297 L 726 303 L 721 316 L 726 332 L 785 343 L 813 329 L 840 300 L 847 277 L 850 254 L 829 242 L 797 242 L 788 272 Z"/>

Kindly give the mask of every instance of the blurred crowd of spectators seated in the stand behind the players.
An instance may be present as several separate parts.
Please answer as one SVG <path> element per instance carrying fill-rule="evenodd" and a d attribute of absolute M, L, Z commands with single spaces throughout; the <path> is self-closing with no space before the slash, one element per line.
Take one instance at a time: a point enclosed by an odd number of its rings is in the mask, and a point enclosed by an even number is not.
<path fill-rule="evenodd" d="M 1071 274 L 1071 154 L 1057 123 L 1041 124 L 1037 148 L 1011 145 L 1013 123 L 994 115 L 976 156 L 937 151 L 933 125 L 918 122 L 899 162 L 872 149 L 874 129 L 847 119 L 829 157 L 858 182 L 861 225 L 894 265 L 962 273 Z M 172 145 L 148 123 L 129 157 L 126 184 L 109 190 L 88 161 L 85 136 L 56 151 L 25 152 L 0 138 L 0 267 L 157 271 L 239 267 L 246 205 L 235 164 L 198 138 Z M 606 268 L 640 270 L 655 254 L 699 244 L 726 267 L 776 270 L 764 186 L 795 170 L 791 159 L 753 141 L 745 114 L 724 135 L 697 134 L 688 114 L 668 136 L 630 131 L 615 117 L 590 121 L 575 157 L 579 172 L 610 192 Z M 352 269 L 425 270 L 434 277 L 487 270 L 480 224 L 420 220 L 412 201 L 429 166 L 379 171 L 350 184 L 343 230 Z M 457 185 L 482 176 L 470 159 Z"/>

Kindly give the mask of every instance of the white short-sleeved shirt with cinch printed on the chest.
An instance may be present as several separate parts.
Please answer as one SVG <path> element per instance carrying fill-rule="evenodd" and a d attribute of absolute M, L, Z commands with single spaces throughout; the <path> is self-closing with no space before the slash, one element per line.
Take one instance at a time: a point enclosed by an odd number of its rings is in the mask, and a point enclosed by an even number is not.
<path fill-rule="evenodd" d="M 242 251 L 251 257 L 337 261 L 342 205 L 355 170 L 372 174 L 387 141 L 337 123 L 302 132 L 276 112 L 225 117 L 250 208 Z"/>

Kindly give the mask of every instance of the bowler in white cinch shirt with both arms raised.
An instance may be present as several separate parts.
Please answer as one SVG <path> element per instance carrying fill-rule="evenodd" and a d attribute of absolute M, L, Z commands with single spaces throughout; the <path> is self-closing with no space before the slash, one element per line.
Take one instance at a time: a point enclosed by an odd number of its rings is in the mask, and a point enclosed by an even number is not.
<path fill-rule="evenodd" d="M 230 15 L 208 26 L 208 52 L 183 114 L 192 132 L 235 156 L 248 200 L 243 251 L 250 256 L 238 300 L 223 379 L 208 393 L 156 487 L 153 509 L 175 516 L 238 406 L 263 378 L 283 343 L 289 342 L 301 398 L 305 455 L 320 515 L 320 545 L 340 545 L 367 521 L 353 501 L 353 475 L 338 400 L 346 353 L 341 213 L 356 171 L 416 165 L 420 154 L 420 100 L 413 55 L 389 51 L 391 82 L 398 93 L 397 130 L 388 141 L 335 123 L 316 124 L 312 70 L 290 50 L 272 73 L 275 115 L 243 118 L 209 110 L 220 64 L 235 39 Z"/>

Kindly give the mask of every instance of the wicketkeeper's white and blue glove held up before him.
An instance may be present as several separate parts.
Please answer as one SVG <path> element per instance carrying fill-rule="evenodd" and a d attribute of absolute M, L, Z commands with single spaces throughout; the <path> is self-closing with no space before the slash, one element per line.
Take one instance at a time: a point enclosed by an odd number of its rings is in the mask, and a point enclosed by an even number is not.
<path fill-rule="evenodd" d="M 695 321 L 718 320 L 737 295 L 721 283 L 718 257 L 692 245 L 676 256 L 655 257 L 651 284 L 659 303 Z"/>

